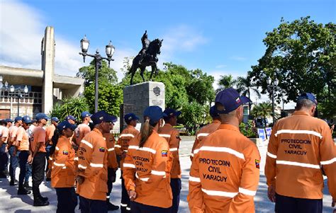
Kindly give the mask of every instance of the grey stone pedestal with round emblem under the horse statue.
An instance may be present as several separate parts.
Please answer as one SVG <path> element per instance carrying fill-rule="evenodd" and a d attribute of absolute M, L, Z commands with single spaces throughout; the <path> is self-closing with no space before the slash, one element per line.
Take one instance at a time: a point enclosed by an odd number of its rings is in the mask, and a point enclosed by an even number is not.
<path fill-rule="evenodd" d="M 147 81 L 141 84 L 126 86 L 123 89 L 123 106 L 121 109 L 121 122 L 123 115 L 135 113 L 143 120 L 143 111 L 150 105 L 158 105 L 164 110 L 164 84 Z M 121 127 L 123 125 L 121 124 Z"/>

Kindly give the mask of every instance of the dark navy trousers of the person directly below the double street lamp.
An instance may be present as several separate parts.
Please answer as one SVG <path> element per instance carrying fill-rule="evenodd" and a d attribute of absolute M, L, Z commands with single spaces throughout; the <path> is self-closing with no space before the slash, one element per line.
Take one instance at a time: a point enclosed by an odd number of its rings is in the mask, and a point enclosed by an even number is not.
<path fill-rule="evenodd" d="M 81 209 L 82 213 L 106 213 L 106 200 L 91 200 L 79 196 L 79 209 Z"/>

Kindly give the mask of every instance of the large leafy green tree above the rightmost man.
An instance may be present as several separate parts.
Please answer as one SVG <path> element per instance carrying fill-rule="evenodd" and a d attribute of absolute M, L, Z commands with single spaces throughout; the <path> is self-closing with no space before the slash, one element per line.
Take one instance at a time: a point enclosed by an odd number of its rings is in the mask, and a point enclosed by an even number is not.
<path fill-rule="evenodd" d="M 279 27 L 263 40 L 267 50 L 252 66 L 254 82 L 261 86 L 262 93 L 270 93 L 267 78 L 279 79 L 276 90 L 288 97 L 286 102 L 295 101 L 300 93 L 311 92 L 320 105 L 335 103 L 335 32 L 335 23 L 315 23 L 309 16 L 291 23 L 281 19 Z M 281 96 L 276 98 L 279 102 Z M 324 113 L 335 116 L 333 109 Z"/>

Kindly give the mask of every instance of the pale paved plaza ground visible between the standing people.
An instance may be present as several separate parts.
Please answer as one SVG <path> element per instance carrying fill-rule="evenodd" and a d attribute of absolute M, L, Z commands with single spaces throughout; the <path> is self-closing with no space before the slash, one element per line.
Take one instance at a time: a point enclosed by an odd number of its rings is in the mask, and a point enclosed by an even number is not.
<path fill-rule="evenodd" d="M 190 159 L 189 152 L 194 142 L 192 137 L 183 137 L 181 142 L 181 169 L 182 169 L 182 191 L 181 202 L 179 212 L 189 212 L 188 203 L 186 202 L 186 196 L 188 195 L 188 179 Z M 266 178 L 264 176 L 264 162 L 266 157 L 267 145 L 261 144 L 258 146 L 260 154 L 262 156 L 262 162 L 260 165 L 260 182 L 257 195 L 254 198 L 256 212 L 273 212 L 274 205 L 267 199 L 267 185 Z M 18 172 L 17 172 L 18 173 Z M 118 172 L 120 176 L 120 173 Z M 325 180 L 326 186 L 326 180 Z M 57 197 L 56 192 L 50 187 L 50 183 L 43 182 L 40 187 L 43 196 L 49 197 L 50 205 L 47 207 L 33 207 L 33 195 L 16 195 L 17 188 L 9 186 L 9 181 L 6 179 L 0 179 L 0 213 L 2 212 L 56 212 Z M 332 198 L 329 195 L 327 188 L 323 190 L 323 212 L 332 212 L 330 207 Z M 113 185 L 111 201 L 115 205 L 120 205 L 121 200 L 121 180 Z M 77 212 L 79 212 L 77 210 Z M 120 212 L 120 211 L 115 211 Z"/>

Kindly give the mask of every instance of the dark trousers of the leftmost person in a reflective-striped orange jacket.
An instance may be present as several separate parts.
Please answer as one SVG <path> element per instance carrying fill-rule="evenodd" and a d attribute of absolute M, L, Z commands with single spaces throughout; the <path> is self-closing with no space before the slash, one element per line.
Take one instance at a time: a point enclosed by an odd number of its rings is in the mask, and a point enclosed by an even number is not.
<path fill-rule="evenodd" d="M 56 213 L 73 213 L 77 206 L 77 195 L 72 188 L 55 188 L 57 195 Z"/>

